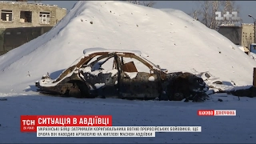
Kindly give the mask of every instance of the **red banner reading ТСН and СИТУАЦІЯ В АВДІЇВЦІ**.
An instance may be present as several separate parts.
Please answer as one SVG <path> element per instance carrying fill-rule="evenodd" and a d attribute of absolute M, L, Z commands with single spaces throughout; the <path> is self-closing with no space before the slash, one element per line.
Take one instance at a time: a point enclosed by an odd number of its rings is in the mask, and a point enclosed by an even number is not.
<path fill-rule="evenodd" d="M 37 132 L 37 126 L 112 126 L 111 115 L 22 115 L 21 131 Z"/>

